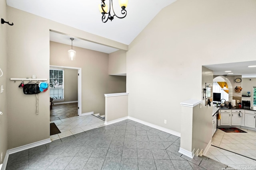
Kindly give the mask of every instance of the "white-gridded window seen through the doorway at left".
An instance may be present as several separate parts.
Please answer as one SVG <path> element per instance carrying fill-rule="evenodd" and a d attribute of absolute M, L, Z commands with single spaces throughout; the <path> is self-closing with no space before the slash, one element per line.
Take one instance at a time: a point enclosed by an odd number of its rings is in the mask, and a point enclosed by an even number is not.
<path fill-rule="evenodd" d="M 50 97 L 64 100 L 64 70 L 50 68 Z"/>

